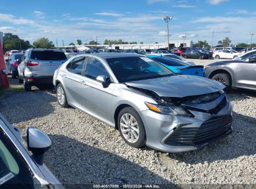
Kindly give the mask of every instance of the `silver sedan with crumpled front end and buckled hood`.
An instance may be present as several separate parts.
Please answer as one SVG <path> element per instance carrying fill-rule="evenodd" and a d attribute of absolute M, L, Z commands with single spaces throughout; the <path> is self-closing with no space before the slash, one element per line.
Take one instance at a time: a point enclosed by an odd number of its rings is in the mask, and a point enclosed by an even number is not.
<path fill-rule="evenodd" d="M 224 85 L 175 75 L 143 55 L 77 55 L 55 71 L 53 83 L 60 106 L 81 109 L 115 127 L 132 147 L 183 152 L 232 132 Z"/>

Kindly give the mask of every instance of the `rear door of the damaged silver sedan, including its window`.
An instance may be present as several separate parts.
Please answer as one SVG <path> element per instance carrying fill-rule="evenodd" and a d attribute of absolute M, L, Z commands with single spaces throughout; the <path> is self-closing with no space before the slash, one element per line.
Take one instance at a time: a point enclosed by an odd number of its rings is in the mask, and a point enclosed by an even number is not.
<path fill-rule="evenodd" d="M 85 106 L 81 93 L 84 83 L 85 59 L 86 57 L 83 56 L 73 58 L 66 67 L 66 73 L 62 75 L 67 101 L 80 109 Z"/>

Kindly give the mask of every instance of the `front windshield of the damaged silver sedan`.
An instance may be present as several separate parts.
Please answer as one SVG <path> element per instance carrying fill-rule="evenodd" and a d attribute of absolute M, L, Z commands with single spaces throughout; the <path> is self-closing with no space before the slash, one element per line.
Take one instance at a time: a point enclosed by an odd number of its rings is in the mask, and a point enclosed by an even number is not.
<path fill-rule="evenodd" d="M 174 75 L 171 70 L 148 57 L 119 57 L 106 60 L 120 83 Z"/>

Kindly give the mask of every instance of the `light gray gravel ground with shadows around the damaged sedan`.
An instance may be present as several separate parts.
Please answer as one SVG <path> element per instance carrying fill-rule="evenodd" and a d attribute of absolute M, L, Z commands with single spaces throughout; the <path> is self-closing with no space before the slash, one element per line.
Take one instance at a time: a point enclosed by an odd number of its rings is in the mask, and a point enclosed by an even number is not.
<path fill-rule="evenodd" d="M 234 110 L 232 135 L 203 149 L 177 154 L 129 147 L 112 127 L 78 109 L 61 108 L 50 88 L 2 93 L 0 112 L 23 131 L 36 126 L 49 134 L 52 148 L 45 164 L 67 188 L 73 183 L 254 188 L 256 95 L 232 90 L 228 96 Z"/>

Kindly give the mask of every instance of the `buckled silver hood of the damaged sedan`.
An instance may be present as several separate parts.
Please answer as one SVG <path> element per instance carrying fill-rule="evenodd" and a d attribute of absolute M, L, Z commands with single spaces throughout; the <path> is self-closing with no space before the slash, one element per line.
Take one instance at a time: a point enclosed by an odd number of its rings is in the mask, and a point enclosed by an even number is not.
<path fill-rule="evenodd" d="M 224 85 L 217 81 L 189 75 L 174 75 L 164 78 L 130 81 L 125 84 L 154 91 L 159 96 L 178 98 L 213 93 L 225 88 Z"/>

